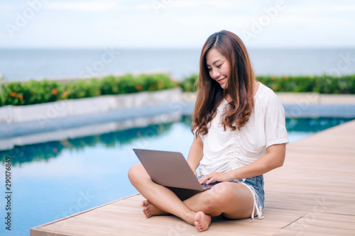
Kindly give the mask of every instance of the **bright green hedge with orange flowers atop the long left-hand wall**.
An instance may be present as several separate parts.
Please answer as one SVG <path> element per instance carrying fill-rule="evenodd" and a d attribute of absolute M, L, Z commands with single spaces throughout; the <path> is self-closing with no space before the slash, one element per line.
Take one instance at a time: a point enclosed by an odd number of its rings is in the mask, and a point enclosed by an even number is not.
<path fill-rule="evenodd" d="M 66 84 L 55 81 L 9 82 L 1 85 L 0 106 L 30 105 L 65 99 L 80 99 L 105 94 L 172 89 L 178 86 L 166 74 L 125 74 L 120 77 L 83 79 Z"/>

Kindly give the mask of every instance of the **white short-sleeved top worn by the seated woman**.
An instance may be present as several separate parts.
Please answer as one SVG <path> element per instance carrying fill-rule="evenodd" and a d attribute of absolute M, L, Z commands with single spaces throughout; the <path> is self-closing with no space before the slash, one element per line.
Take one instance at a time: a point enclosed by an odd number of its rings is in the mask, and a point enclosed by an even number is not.
<path fill-rule="evenodd" d="M 221 115 L 228 102 L 223 99 L 217 114 L 207 125 L 207 135 L 200 135 L 203 157 L 200 174 L 229 172 L 244 167 L 266 154 L 271 145 L 288 143 L 285 127 L 285 111 L 278 96 L 263 84 L 259 84 L 254 96 L 254 111 L 241 130 L 224 131 Z"/>

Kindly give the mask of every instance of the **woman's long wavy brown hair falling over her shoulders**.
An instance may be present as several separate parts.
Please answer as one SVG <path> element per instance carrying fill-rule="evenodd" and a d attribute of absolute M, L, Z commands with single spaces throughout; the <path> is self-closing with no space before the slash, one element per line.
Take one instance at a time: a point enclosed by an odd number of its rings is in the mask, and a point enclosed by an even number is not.
<path fill-rule="evenodd" d="M 218 50 L 231 64 L 226 89 L 209 77 L 206 55 L 211 48 Z M 255 75 L 248 52 L 241 39 L 227 30 L 212 34 L 207 38 L 201 51 L 200 73 L 196 80 L 197 100 L 192 115 L 192 133 L 206 135 L 207 125 L 216 116 L 217 107 L 226 94 L 231 96 L 224 111 L 222 124 L 231 130 L 242 128 L 249 120 L 254 108 L 253 81 Z"/>

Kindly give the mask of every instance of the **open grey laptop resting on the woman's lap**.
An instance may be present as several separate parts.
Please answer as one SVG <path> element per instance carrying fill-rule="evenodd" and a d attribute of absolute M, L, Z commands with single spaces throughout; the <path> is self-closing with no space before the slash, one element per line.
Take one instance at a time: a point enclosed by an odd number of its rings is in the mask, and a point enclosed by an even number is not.
<path fill-rule="evenodd" d="M 136 148 L 133 148 L 133 152 L 151 179 L 173 191 L 182 201 L 219 183 L 200 184 L 180 152 Z"/>

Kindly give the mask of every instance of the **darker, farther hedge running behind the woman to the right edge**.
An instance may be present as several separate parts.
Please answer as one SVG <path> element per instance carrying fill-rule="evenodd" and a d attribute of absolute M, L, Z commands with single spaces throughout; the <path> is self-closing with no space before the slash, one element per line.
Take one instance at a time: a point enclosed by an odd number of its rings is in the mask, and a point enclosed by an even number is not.
<path fill-rule="evenodd" d="M 184 91 L 195 91 L 194 83 L 197 75 L 184 79 L 180 86 Z M 258 81 L 278 92 L 315 92 L 320 94 L 355 94 L 355 74 L 334 77 L 322 76 L 290 76 L 273 77 L 258 76 Z"/>

